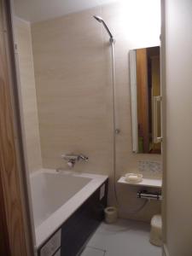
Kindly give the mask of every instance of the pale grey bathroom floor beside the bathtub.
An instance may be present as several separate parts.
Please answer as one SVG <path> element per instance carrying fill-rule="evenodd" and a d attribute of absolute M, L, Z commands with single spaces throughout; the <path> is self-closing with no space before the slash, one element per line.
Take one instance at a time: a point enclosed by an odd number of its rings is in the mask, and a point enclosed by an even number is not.
<path fill-rule="evenodd" d="M 149 224 L 119 219 L 102 223 L 81 256 L 161 256 L 161 248 L 148 241 Z"/>

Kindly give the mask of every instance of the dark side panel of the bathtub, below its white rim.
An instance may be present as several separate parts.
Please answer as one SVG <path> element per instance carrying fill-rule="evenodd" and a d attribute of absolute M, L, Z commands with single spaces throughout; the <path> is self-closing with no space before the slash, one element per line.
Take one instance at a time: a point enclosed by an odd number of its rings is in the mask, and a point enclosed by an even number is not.
<path fill-rule="evenodd" d="M 102 222 L 104 218 L 103 210 L 107 206 L 107 198 L 108 181 L 96 189 L 96 192 L 90 195 L 90 198 L 61 225 L 59 229 L 61 230 L 61 232 L 59 231 L 61 234 L 61 247 L 57 247 L 54 253 L 46 256 L 76 256 L 79 254 L 89 237 Z M 57 233 L 58 230 L 55 234 Z M 55 234 L 50 236 L 48 241 L 38 249 L 38 256 L 44 256 L 44 247 L 53 240 Z"/>

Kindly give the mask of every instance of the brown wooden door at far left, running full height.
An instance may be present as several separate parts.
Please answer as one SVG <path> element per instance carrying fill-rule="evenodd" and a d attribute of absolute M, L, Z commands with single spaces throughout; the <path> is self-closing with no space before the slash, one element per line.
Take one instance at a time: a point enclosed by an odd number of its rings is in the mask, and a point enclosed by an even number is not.
<path fill-rule="evenodd" d="M 14 96 L 14 70 L 10 63 L 14 63 L 14 59 L 10 60 L 12 32 L 9 10 L 9 1 L 0 0 L 0 255 L 28 256 L 31 238 L 21 194 L 21 154 L 16 152 L 20 137 L 11 97 Z"/>

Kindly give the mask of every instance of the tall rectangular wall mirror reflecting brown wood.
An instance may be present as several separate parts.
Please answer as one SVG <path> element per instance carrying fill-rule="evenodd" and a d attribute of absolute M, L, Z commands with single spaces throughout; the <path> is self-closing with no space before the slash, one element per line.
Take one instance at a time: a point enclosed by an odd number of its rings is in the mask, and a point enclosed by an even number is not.
<path fill-rule="evenodd" d="M 129 59 L 133 152 L 160 154 L 160 46 L 132 49 Z"/>

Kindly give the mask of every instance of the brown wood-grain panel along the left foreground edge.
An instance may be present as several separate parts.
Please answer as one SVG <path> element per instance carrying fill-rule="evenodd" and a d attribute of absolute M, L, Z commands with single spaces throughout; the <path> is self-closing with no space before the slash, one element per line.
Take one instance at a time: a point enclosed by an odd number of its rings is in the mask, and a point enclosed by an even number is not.
<path fill-rule="evenodd" d="M 0 0 L 0 192 L 6 215 L 3 223 L 7 224 L 10 253 L 12 256 L 26 256 L 26 229 L 15 149 L 14 112 L 9 91 L 11 79 L 7 55 L 7 43 L 10 39 L 7 26 L 8 8 L 9 3 Z"/>

